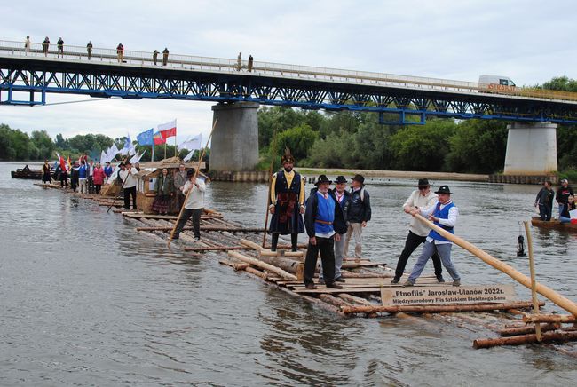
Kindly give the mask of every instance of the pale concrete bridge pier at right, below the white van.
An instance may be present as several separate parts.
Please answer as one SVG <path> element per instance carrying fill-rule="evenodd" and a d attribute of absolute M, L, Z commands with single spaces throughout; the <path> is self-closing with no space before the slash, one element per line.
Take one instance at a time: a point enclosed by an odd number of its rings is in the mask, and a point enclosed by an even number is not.
<path fill-rule="evenodd" d="M 548 175 L 557 170 L 557 123 L 507 125 L 504 175 Z"/>

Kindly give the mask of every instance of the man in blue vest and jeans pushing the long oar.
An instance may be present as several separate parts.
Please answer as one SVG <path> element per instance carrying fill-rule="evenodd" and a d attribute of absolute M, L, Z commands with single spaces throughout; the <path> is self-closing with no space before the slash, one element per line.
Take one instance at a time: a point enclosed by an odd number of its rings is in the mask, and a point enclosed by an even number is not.
<path fill-rule="evenodd" d="M 457 209 L 453 201 L 451 201 L 451 194 L 453 193 L 448 186 L 440 186 L 439 191 L 436 191 L 435 194 L 439 195 L 439 200 L 434 205 L 428 209 L 412 209 L 411 215 L 420 213 L 423 217 L 429 217 L 429 220 L 435 225 L 447 230 L 449 233 L 454 233 L 454 225 L 457 222 L 457 217 L 459 217 L 459 209 Z M 451 241 L 443 238 L 435 230 L 431 230 L 424 243 L 423 252 L 419 259 L 417 259 L 411 275 L 408 276 L 408 280 L 403 286 L 408 287 L 415 285 L 415 280 L 419 278 L 427 261 L 435 252 L 439 254 L 443 266 L 445 266 L 445 269 L 447 269 L 447 272 L 453 278 L 453 286 L 461 286 L 461 277 L 459 277 L 459 273 L 451 261 L 452 246 Z"/>

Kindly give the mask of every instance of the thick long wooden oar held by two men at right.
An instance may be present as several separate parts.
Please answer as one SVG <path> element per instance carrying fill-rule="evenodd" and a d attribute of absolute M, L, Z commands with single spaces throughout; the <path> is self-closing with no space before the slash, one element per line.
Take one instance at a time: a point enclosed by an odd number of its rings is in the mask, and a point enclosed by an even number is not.
<path fill-rule="evenodd" d="M 433 224 L 430 220 L 425 219 L 420 214 L 415 214 L 414 217 L 419 219 L 425 225 L 428 225 L 430 228 L 435 230 L 437 233 L 442 235 L 449 241 L 452 241 L 454 244 L 461 246 L 462 249 L 466 249 L 471 254 L 479 257 L 483 262 L 488 265 L 493 266 L 495 269 L 504 272 L 505 274 L 509 275 L 510 278 L 513 280 L 518 281 L 521 285 L 525 286 L 526 288 L 531 289 L 531 279 L 527 277 L 525 274 L 518 272 L 510 265 L 505 264 L 504 262 L 500 261 L 499 259 L 487 254 L 482 249 L 478 249 L 477 246 L 473 245 L 472 243 L 465 241 L 464 239 L 455 236 L 452 233 L 447 232 L 446 230 L 442 229 L 438 225 Z M 572 313 L 573 315 L 577 316 L 577 304 L 573 303 L 568 298 L 561 296 L 555 290 L 547 288 L 540 283 L 537 283 L 535 286 L 537 293 L 541 294 L 541 296 L 545 296 L 548 298 L 553 304 L 556 304 L 560 308 L 565 309 L 565 311 Z"/>

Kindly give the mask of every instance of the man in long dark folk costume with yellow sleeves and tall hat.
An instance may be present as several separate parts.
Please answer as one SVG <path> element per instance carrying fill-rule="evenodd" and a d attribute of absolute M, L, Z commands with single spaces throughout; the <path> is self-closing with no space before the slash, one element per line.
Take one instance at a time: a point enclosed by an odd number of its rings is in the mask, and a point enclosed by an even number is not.
<path fill-rule="evenodd" d="M 295 158 L 288 148 L 282 155 L 281 163 L 282 170 L 274 173 L 271 181 L 271 249 L 276 250 L 280 234 L 290 234 L 292 250 L 296 251 L 298 234 L 304 233 L 304 178 L 293 170 Z"/>

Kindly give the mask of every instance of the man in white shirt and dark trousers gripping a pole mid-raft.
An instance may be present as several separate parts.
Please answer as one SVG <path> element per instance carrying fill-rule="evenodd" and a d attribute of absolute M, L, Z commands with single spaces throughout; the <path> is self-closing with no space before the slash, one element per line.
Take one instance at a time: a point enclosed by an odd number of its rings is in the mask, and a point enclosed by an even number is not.
<path fill-rule="evenodd" d="M 202 178 L 195 177 L 194 172 L 194 169 L 186 172 L 188 181 L 180 188 L 183 194 L 186 195 L 188 191 L 190 191 L 190 193 L 186 197 L 185 209 L 182 211 L 182 217 L 178 220 L 177 229 L 172 239 L 178 239 L 180 237 L 180 232 L 190 217 L 193 217 L 194 239 L 196 241 L 201 239 L 201 215 L 202 209 L 204 208 L 204 191 L 206 190 L 206 185 Z"/>

